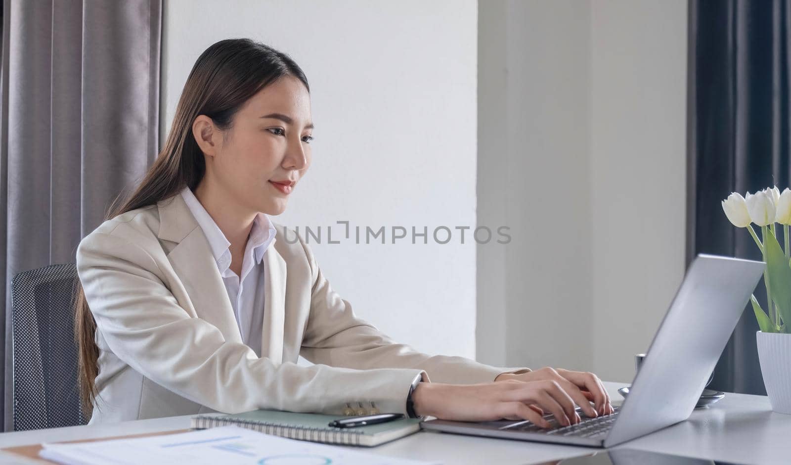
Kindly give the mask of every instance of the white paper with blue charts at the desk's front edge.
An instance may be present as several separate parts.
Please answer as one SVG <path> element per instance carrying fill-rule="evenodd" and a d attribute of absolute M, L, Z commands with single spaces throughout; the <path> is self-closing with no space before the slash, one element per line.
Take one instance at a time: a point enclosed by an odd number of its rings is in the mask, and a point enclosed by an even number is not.
<path fill-rule="evenodd" d="M 256 463 L 260 465 L 418 465 L 438 462 L 392 459 L 370 452 L 263 434 L 238 426 L 189 433 L 73 444 L 42 444 L 40 456 L 59 463 Z"/>

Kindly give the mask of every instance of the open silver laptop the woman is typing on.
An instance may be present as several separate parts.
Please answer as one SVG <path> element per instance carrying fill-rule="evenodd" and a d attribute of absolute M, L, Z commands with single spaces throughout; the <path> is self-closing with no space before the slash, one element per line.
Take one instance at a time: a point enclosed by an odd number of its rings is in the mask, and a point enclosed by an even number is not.
<path fill-rule="evenodd" d="M 764 270 L 763 262 L 698 255 L 629 389 L 615 412 L 551 428 L 529 421 L 452 422 L 433 419 L 422 429 L 485 437 L 609 448 L 689 418 Z"/>

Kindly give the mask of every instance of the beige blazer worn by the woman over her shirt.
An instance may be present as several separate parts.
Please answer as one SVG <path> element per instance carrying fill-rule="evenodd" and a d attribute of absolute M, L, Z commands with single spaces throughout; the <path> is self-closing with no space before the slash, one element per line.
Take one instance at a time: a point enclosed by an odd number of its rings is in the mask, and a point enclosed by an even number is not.
<path fill-rule="evenodd" d="M 90 423 L 259 408 L 343 414 L 358 402 L 405 413 L 420 373 L 473 384 L 529 371 L 393 342 L 354 316 L 301 238 L 288 244 L 293 230 L 275 228 L 263 259 L 261 357 L 242 343 L 206 236 L 180 195 L 81 240 L 77 269 L 100 353 Z M 297 365 L 299 355 L 316 365 Z"/>

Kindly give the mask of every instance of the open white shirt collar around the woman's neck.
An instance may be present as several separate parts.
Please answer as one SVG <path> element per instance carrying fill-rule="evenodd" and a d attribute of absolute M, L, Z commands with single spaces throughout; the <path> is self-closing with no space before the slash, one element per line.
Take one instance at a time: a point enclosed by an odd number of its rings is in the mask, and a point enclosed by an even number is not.
<path fill-rule="evenodd" d="M 222 233 L 214 218 L 206 211 L 206 208 L 202 206 L 189 187 L 184 187 L 181 191 L 181 196 L 184 198 L 184 202 L 187 203 L 187 207 L 195 217 L 195 220 L 198 221 L 206 239 L 209 240 L 209 247 L 218 267 L 221 270 L 227 269 L 231 265 L 231 243 L 225 238 L 225 234 Z M 255 263 L 261 263 L 263 254 L 274 240 L 275 233 L 274 225 L 266 214 L 259 212 L 255 215 L 252 228 L 250 229 L 248 244 L 245 246 L 245 251 L 252 248 Z"/>

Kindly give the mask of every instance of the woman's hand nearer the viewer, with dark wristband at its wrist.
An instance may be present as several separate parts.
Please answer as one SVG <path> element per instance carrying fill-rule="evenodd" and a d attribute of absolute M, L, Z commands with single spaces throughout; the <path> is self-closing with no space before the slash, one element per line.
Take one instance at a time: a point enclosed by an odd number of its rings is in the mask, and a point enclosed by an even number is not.
<path fill-rule="evenodd" d="M 505 380 L 482 384 L 420 383 L 412 393 L 414 412 L 442 420 L 487 422 L 530 420 L 542 428 L 550 424 L 543 412 L 561 425 L 581 421 L 571 396 L 554 380 Z M 578 402 L 589 401 L 585 398 Z M 596 414 L 596 412 L 593 412 Z"/>

